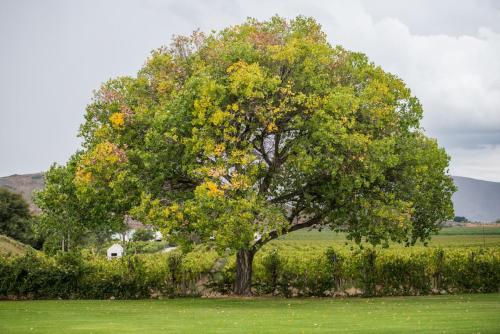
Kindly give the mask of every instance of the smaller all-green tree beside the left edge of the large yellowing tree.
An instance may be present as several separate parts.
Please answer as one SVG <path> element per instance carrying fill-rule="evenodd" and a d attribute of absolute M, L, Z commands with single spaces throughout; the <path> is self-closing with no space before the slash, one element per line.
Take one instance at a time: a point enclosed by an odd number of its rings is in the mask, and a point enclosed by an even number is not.
<path fill-rule="evenodd" d="M 77 166 L 85 157 L 77 153 L 66 166 L 51 166 L 44 175 L 44 189 L 34 194 L 34 202 L 42 210 L 36 230 L 44 236 L 44 248 L 49 252 L 69 251 L 89 240 L 101 244 L 111 233 L 125 228 L 123 217 L 117 218 L 110 210 L 111 196 L 103 198 L 98 191 L 82 193 L 88 190 L 78 186 L 85 176 L 77 175 Z"/>

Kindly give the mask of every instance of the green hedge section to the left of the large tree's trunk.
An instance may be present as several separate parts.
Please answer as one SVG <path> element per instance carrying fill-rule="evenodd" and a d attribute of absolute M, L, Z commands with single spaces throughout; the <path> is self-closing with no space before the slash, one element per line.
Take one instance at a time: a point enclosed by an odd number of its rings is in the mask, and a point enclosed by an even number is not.
<path fill-rule="evenodd" d="M 143 254 L 108 261 L 102 256 L 30 252 L 0 258 L 0 298 L 135 299 L 196 295 L 197 283 L 216 261 L 202 249 Z"/>

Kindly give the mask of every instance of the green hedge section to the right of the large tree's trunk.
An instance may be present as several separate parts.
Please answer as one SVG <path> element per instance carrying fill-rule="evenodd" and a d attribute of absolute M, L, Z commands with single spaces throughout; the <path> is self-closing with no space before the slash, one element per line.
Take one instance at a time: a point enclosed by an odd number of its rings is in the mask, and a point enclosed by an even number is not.
<path fill-rule="evenodd" d="M 234 267 L 225 270 L 234 272 Z M 278 247 L 256 256 L 254 286 L 258 293 L 283 296 L 495 292 L 500 290 L 500 250 Z"/>

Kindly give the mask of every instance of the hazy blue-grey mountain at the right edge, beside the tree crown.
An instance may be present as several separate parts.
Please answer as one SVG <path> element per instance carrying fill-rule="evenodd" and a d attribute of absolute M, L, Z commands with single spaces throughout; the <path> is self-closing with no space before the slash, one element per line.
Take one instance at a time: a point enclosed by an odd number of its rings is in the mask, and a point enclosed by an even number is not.
<path fill-rule="evenodd" d="M 458 191 L 453 195 L 455 215 L 471 221 L 500 219 L 500 182 L 453 176 Z"/>

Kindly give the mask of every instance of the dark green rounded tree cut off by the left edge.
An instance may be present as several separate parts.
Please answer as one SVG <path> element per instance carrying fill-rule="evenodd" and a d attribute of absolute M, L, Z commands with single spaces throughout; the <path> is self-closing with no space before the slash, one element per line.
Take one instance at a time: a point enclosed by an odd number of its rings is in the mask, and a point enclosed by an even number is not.
<path fill-rule="evenodd" d="M 5 188 L 0 188 L 0 234 L 24 243 L 34 240 L 28 202 Z"/>

